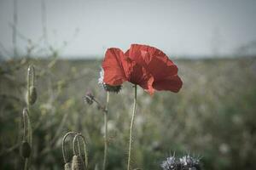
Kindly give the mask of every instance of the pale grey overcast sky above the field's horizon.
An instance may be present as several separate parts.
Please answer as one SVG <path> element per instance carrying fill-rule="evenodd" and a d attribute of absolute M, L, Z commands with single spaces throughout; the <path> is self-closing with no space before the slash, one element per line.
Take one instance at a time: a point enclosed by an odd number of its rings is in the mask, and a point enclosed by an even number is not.
<path fill-rule="evenodd" d="M 18 31 L 33 42 L 43 34 L 41 1 L 18 0 Z M 126 50 L 131 43 L 177 56 L 236 54 L 256 40 L 255 0 L 44 1 L 48 42 L 55 48 L 69 42 L 61 49 L 66 57 L 102 57 L 107 48 Z M 0 0 L 2 54 L 13 48 L 13 9 L 13 0 Z M 22 38 L 17 44 L 26 49 Z"/>

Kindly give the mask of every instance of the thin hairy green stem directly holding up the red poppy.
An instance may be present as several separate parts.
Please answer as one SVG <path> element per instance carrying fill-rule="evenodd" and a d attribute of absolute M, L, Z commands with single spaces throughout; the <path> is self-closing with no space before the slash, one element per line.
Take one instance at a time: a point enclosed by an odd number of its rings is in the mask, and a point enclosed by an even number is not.
<path fill-rule="evenodd" d="M 133 102 L 133 109 L 132 109 L 132 116 L 131 116 L 127 170 L 130 170 L 130 164 L 131 164 L 132 131 L 133 131 L 133 124 L 134 124 L 135 113 L 136 113 L 136 106 L 137 106 L 137 85 L 134 86 L 134 100 L 133 101 L 134 102 Z"/>

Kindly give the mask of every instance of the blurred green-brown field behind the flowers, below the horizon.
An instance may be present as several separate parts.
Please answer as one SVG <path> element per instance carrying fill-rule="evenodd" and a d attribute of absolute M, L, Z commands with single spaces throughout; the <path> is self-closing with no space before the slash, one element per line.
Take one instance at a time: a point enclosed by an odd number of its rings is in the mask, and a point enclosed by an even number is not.
<path fill-rule="evenodd" d="M 138 90 L 132 167 L 161 169 L 173 152 L 201 156 L 203 169 L 256 169 L 256 58 L 175 60 L 183 88 L 178 94 Z M 0 169 L 21 169 L 21 113 L 26 69 L 35 65 L 38 101 L 32 107 L 32 169 L 63 169 L 61 138 L 84 134 L 90 169 L 101 169 L 103 115 L 86 105 L 86 91 L 105 102 L 97 84 L 100 60 L 2 61 L 0 70 Z M 125 169 L 132 88 L 110 95 L 108 169 Z M 20 130 L 19 130 L 20 129 Z M 71 150 L 69 151 L 70 157 Z"/>

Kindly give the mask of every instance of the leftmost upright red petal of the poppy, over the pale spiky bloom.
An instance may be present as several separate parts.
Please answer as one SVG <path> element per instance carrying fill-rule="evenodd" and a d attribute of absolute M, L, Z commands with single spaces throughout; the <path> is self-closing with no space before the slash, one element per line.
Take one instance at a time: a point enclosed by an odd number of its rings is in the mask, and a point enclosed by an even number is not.
<path fill-rule="evenodd" d="M 105 59 L 102 62 L 102 68 L 104 70 L 103 82 L 118 86 L 127 80 L 125 76 L 125 69 L 127 65 L 124 62 L 124 53 L 119 48 L 108 48 Z"/>

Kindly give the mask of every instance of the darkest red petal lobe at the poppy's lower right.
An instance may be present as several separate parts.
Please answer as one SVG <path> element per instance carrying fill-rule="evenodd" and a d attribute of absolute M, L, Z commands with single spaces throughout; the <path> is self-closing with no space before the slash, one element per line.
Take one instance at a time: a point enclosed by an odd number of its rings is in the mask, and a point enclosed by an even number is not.
<path fill-rule="evenodd" d="M 166 79 L 154 81 L 153 88 L 156 90 L 168 90 L 177 93 L 182 88 L 183 82 L 178 76 L 167 77 Z"/>

